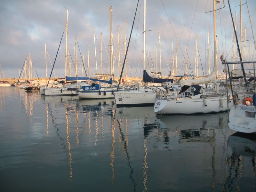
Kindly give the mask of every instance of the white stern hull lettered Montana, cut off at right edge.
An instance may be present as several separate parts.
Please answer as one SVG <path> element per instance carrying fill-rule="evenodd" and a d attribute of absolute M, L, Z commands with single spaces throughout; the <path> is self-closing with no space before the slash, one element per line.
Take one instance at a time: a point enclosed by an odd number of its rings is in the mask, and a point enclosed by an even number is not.
<path fill-rule="evenodd" d="M 228 127 L 238 132 L 256 132 L 255 112 L 255 106 L 233 105 L 229 113 Z"/>

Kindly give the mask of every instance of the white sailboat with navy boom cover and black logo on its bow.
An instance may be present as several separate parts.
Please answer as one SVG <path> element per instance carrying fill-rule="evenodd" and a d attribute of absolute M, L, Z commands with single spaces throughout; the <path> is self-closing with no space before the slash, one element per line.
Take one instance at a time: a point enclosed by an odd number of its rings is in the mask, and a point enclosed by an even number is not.
<path fill-rule="evenodd" d="M 124 106 L 153 106 L 157 99 L 158 88 L 148 88 L 146 83 L 172 83 L 173 79 L 158 79 L 148 75 L 146 71 L 146 0 L 144 0 L 144 22 L 143 22 L 143 58 L 144 58 L 144 70 L 143 70 L 143 82 L 144 86 L 141 87 L 138 83 L 138 88 L 129 92 L 116 92 L 115 101 L 117 107 Z"/>

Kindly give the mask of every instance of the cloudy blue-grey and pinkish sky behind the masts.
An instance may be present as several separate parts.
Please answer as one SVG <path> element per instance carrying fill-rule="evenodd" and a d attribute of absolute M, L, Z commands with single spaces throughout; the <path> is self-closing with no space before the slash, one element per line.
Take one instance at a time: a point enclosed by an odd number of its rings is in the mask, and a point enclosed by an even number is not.
<path fill-rule="evenodd" d="M 47 77 L 49 77 L 53 64 L 54 73 L 52 73 L 52 77 L 65 76 L 64 29 L 66 25 L 67 8 L 69 63 L 71 66 L 71 72 L 68 71 L 68 76 L 75 76 L 75 37 L 77 39 L 76 58 L 78 76 L 85 76 L 84 68 L 86 69 L 86 74 L 89 75 L 88 53 L 91 77 L 96 73 L 96 60 L 97 72 L 101 73 L 102 65 L 102 73 L 110 74 L 110 6 L 112 6 L 114 73 L 115 76 L 120 76 L 121 67 L 118 68 L 118 65 L 123 65 L 125 55 L 125 44 L 122 43 L 125 41 L 124 23 L 126 19 L 127 47 L 137 2 L 137 0 L 2 0 L 0 6 L 1 78 L 3 78 L 3 75 L 6 78 L 18 78 L 20 73 L 24 78 L 22 68 L 28 54 L 33 63 L 33 78 L 37 78 L 37 76 L 39 78 L 46 77 L 45 66 L 47 66 Z M 240 46 L 240 1 L 230 0 L 229 2 L 234 20 L 237 12 L 237 36 Z M 244 60 L 256 60 L 256 52 L 252 36 L 252 30 L 254 36 L 256 36 L 256 28 L 255 26 L 251 27 L 247 10 L 248 5 L 251 23 L 252 25 L 255 25 L 256 1 L 247 0 L 246 4 L 246 1 L 242 0 L 242 4 L 243 41 L 245 36 Z M 224 59 L 227 59 L 228 61 L 233 60 L 234 30 L 228 1 L 225 0 L 224 3 L 221 1 L 217 4 L 216 9 L 219 8 L 221 9 L 216 11 L 216 36 L 218 37 L 217 57 L 220 71 L 222 69 L 219 60 L 221 53 L 223 53 Z M 195 58 L 196 50 L 198 50 L 198 76 L 207 75 L 207 72 L 209 71 L 209 63 L 210 68 L 212 68 L 213 58 L 212 10 L 212 0 L 147 0 L 147 32 L 145 48 L 147 52 L 146 70 L 157 70 L 157 72 L 159 72 L 161 69 L 162 75 L 168 76 L 170 71 L 172 72 L 174 66 L 176 66 L 177 58 L 178 69 L 176 70 L 176 75 L 183 75 L 186 69 L 185 63 L 187 63 L 188 68 L 187 74 L 194 75 L 195 71 L 197 71 L 195 70 Z M 119 28 L 119 38 L 117 26 Z M 93 35 L 93 29 L 95 36 Z M 61 40 L 63 32 L 64 35 Z M 100 38 L 101 33 L 102 38 Z M 94 42 L 97 50 L 96 59 Z M 102 62 L 100 54 L 101 42 Z M 118 42 L 120 42 L 120 44 Z M 177 42 L 178 46 L 176 54 Z M 46 64 L 45 44 L 47 49 Z M 89 45 L 89 49 L 87 45 Z M 120 57 L 118 54 L 119 52 Z M 82 60 L 84 57 L 83 67 Z M 126 58 L 127 76 L 142 76 L 143 0 L 139 0 Z M 235 51 L 235 60 L 238 60 L 237 51 Z"/>

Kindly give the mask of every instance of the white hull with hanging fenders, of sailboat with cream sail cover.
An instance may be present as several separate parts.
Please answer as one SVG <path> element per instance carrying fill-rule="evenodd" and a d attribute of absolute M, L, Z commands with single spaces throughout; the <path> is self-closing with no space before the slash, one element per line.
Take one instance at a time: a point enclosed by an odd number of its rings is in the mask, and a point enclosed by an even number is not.
<path fill-rule="evenodd" d="M 158 115 L 210 114 L 225 112 L 232 105 L 227 97 L 158 99 L 154 111 Z"/>

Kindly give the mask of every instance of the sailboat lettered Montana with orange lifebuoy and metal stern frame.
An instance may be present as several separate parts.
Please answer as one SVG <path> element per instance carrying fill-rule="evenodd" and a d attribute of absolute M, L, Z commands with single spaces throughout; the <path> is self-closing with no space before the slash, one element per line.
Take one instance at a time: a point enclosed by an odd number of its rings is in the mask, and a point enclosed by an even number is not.
<path fill-rule="evenodd" d="M 228 2 L 229 5 L 229 2 Z M 241 4 L 240 4 L 241 6 Z M 247 5 L 248 6 L 248 5 Z M 233 21 L 230 5 L 229 10 L 231 14 L 231 18 Z M 249 15 L 250 16 L 250 15 Z M 222 62 L 222 64 L 226 65 L 226 70 L 228 70 L 228 74 L 230 76 L 230 79 L 232 79 L 232 74 L 234 71 L 240 72 L 242 77 L 244 78 L 245 85 L 247 87 L 246 91 L 243 91 L 242 98 L 237 95 L 237 91 L 233 87 L 233 84 L 230 83 L 230 89 L 232 92 L 233 97 L 233 103 L 234 105 L 230 109 L 230 113 L 228 115 L 228 127 L 234 131 L 237 132 L 243 132 L 243 133 L 255 133 L 256 132 L 256 108 L 255 108 L 255 63 L 256 61 L 243 61 L 243 55 L 242 51 L 240 52 L 238 39 L 236 35 L 236 28 L 233 22 L 233 28 L 235 31 L 235 38 L 236 38 L 236 44 L 237 44 L 237 50 L 239 54 L 240 61 L 239 62 Z M 242 30 L 241 30 L 242 33 Z M 253 37 L 253 42 L 255 46 L 255 41 Z M 242 50 L 242 41 L 241 41 L 241 50 Z M 232 71 L 229 70 L 228 64 L 240 64 L 241 69 L 234 69 Z M 250 64 L 253 64 L 253 76 L 250 77 L 250 80 L 252 84 L 247 84 L 246 81 L 246 74 L 245 74 L 245 68 L 244 64 L 249 64 L 249 70 L 250 70 Z M 231 80 L 230 80 L 231 82 Z"/>

